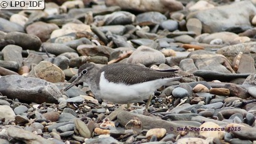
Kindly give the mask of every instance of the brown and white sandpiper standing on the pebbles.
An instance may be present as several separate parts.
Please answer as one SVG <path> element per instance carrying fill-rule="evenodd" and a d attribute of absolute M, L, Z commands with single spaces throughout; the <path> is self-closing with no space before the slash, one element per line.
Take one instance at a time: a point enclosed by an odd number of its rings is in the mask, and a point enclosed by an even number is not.
<path fill-rule="evenodd" d="M 85 82 L 96 98 L 116 104 L 127 104 L 127 107 L 131 103 L 148 99 L 145 107 L 148 109 L 156 89 L 171 81 L 191 76 L 178 76 L 176 71 L 153 70 L 133 63 L 112 63 L 104 66 L 85 63 L 79 67 L 77 78 L 64 91 Z"/>

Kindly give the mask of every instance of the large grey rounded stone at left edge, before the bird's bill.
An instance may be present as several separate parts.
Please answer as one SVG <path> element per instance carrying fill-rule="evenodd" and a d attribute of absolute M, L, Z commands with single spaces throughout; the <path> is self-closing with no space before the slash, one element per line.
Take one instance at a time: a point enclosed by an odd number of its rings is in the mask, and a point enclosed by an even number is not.
<path fill-rule="evenodd" d="M 59 89 L 43 79 L 19 75 L 2 76 L 0 78 L 0 92 L 9 99 L 19 99 L 26 102 L 56 103 L 62 97 Z"/>

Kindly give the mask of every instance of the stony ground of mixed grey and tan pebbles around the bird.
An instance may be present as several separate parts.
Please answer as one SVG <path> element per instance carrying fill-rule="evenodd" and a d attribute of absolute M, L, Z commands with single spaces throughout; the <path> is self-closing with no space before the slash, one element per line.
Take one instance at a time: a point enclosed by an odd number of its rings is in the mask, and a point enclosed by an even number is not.
<path fill-rule="evenodd" d="M 256 1 L 47 1 L 0 11 L 0 143 L 256 143 Z M 194 74 L 126 105 L 84 63 Z M 118 98 L 118 96 L 117 96 Z"/>

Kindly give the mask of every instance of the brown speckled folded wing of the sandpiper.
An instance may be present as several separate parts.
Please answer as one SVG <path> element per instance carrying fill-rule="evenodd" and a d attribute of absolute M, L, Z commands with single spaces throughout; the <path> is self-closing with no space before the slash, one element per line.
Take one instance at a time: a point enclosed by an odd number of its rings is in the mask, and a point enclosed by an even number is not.
<path fill-rule="evenodd" d="M 174 71 L 156 71 L 143 66 L 130 63 L 115 63 L 102 67 L 105 78 L 112 83 L 137 84 L 160 78 L 175 77 Z"/>

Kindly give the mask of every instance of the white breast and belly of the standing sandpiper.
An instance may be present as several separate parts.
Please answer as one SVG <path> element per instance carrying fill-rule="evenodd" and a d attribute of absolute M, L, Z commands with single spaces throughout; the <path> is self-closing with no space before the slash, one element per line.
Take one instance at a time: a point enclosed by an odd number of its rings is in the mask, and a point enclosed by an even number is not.
<path fill-rule="evenodd" d="M 144 99 L 149 99 L 150 94 L 152 94 L 155 89 L 169 83 L 169 81 L 170 78 L 165 78 L 132 85 L 117 84 L 109 82 L 105 78 L 104 72 L 102 72 L 99 81 L 99 93 L 101 99 L 117 104 L 141 102 Z"/>

